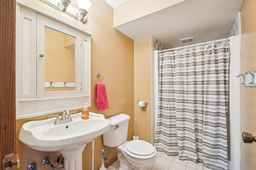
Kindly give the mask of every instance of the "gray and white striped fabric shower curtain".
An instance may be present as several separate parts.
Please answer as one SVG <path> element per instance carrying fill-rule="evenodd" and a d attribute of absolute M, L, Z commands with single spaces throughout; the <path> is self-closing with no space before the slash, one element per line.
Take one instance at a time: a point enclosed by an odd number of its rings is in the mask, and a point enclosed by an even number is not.
<path fill-rule="evenodd" d="M 227 169 L 228 43 L 160 53 L 158 151 Z"/>

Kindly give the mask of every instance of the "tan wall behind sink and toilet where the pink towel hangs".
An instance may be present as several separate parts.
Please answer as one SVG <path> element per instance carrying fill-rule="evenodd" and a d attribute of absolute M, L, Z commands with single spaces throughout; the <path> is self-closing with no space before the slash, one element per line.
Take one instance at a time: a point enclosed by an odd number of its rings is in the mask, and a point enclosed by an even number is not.
<path fill-rule="evenodd" d="M 90 111 L 102 113 L 106 118 L 118 113 L 130 115 L 128 140 L 131 140 L 134 135 L 134 41 L 113 28 L 113 8 L 106 4 L 104 0 L 91 0 L 92 8 L 89 10 L 88 22 L 83 24 L 39 0 L 24 1 L 92 32 L 92 107 L 90 107 Z M 93 100 L 96 71 L 104 76 L 108 96 L 109 109 L 102 111 L 97 110 L 96 103 Z M 41 164 L 42 158 L 45 156 L 50 156 L 51 162 L 56 165 L 55 161 L 60 153 L 39 152 L 29 149 L 18 140 L 18 132 L 23 123 L 45 118 L 47 118 L 46 115 L 16 121 L 16 146 L 17 153 L 20 155 L 21 170 L 25 170 L 30 162 L 37 162 L 39 170 L 51 170 L 49 166 Z M 95 170 L 100 168 L 102 149 L 108 151 L 108 147 L 103 145 L 102 137 L 99 137 L 95 140 L 94 148 Z M 115 148 L 111 148 L 108 157 L 112 158 L 115 154 Z M 88 143 L 83 152 L 83 170 L 90 169 L 91 143 Z"/>

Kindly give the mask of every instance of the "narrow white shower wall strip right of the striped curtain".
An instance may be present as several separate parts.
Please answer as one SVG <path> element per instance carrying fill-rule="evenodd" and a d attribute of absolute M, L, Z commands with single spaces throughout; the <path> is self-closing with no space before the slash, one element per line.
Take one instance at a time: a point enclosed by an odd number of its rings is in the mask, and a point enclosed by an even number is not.
<path fill-rule="evenodd" d="M 240 170 L 240 35 L 230 37 L 228 170 Z"/>

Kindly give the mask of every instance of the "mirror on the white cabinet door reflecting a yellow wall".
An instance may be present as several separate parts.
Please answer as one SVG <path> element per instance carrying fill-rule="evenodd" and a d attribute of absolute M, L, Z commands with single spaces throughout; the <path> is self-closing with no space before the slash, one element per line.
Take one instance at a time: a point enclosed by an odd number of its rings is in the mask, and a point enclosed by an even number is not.
<path fill-rule="evenodd" d="M 75 37 L 45 27 L 45 92 L 76 90 L 75 40 Z"/>

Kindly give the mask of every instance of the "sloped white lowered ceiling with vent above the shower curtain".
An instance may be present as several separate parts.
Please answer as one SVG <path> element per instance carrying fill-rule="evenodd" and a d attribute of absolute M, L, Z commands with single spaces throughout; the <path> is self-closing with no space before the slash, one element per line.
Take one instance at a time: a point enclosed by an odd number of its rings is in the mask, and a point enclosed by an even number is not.
<path fill-rule="evenodd" d="M 242 3 L 186 0 L 115 28 L 134 40 L 152 35 L 166 49 L 223 39 L 228 37 Z M 193 41 L 180 41 L 188 37 L 194 37 Z"/>

